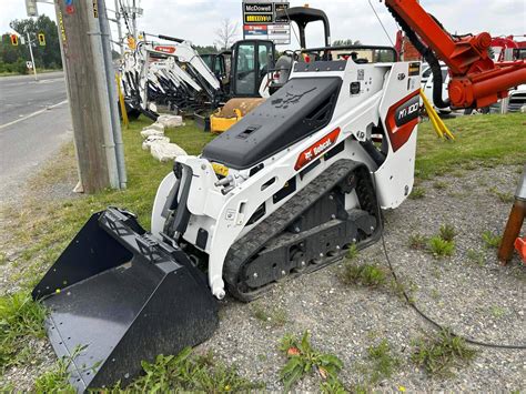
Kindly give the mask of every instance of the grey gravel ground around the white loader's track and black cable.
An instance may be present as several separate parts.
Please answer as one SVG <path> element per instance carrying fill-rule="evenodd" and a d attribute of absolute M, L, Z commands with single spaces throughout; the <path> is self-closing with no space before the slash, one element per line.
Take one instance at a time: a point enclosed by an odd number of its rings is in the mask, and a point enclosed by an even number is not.
<path fill-rule="evenodd" d="M 514 193 L 519 169 L 499 166 L 455 172 L 419 186 L 426 194 L 407 200 L 386 212 L 385 241 L 398 276 L 415 287 L 416 305 L 454 332 L 496 344 L 525 344 L 526 269 L 515 257 L 499 266 L 495 250 L 484 246 L 481 234 L 502 233 L 510 203 L 502 202 L 492 186 L 502 193 Z M 436 182 L 441 182 L 441 189 Z M 436 234 L 441 224 L 455 226 L 456 251 L 452 257 L 437 260 L 408 247 L 411 234 Z M 483 256 L 468 259 L 472 249 Z M 357 262 L 386 265 L 381 243 L 360 252 Z M 455 377 L 431 378 L 413 365 L 412 340 L 433 329 L 387 289 L 345 285 L 335 264 L 294 281 L 279 283 L 253 304 L 227 299 L 220 311 L 221 323 L 215 335 L 198 352 L 213 351 L 219 360 L 236 365 L 241 375 L 261 381 L 269 391 L 282 391 L 280 368 L 286 362 L 277 351 L 285 333 L 312 333 L 313 345 L 337 355 L 345 364 L 340 377 L 346 387 L 363 383 L 366 348 L 385 339 L 403 361 L 397 372 L 380 382 L 375 390 L 422 391 L 524 391 L 526 390 L 526 352 L 477 347 L 472 365 L 457 371 Z M 286 311 L 284 325 L 261 321 L 255 309 Z M 271 313 L 271 312 L 270 312 Z M 20 390 L 30 390 L 38 373 L 51 365 L 53 354 L 44 342 L 36 343 L 36 364 L 11 370 L 4 375 Z M 1 386 L 0 382 L 0 386 Z M 304 378 L 297 391 L 318 391 L 317 377 Z"/>

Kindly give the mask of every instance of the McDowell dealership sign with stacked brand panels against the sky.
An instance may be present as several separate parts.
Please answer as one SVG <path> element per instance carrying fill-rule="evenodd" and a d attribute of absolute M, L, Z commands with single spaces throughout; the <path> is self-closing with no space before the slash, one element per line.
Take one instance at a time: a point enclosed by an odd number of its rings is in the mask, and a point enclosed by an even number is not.
<path fill-rule="evenodd" d="M 276 44 L 291 43 L 291 24 L 276 12 L 289 9 L 289 0 L 243 0 L 243 38 L 271 40 Z"/>

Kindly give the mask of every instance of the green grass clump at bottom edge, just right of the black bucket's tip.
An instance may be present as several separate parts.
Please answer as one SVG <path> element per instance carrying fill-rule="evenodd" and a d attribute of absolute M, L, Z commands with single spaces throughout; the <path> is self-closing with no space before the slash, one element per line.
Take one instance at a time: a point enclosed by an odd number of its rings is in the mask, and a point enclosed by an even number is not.
<path fill-rule="evenodd" d="M 142 362 L 143 376 L 125 387 L 132 393 L 250 392 L 261 383 L 240 376 L 234 367 L 214 361 L 212 354 L 195 355 L 190 347 L 178 355 L 158 355 L 154 363 Z M 118 385 L 112 392 L 120 392 Z"/>

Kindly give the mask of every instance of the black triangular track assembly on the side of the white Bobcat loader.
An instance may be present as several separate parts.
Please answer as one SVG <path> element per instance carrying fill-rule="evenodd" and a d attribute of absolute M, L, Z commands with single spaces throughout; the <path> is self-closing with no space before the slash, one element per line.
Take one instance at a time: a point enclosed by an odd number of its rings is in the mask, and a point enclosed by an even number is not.
<path fill-rule="evenodd" d="M 344 195 L 353 191 L 361 209 L 345 211 Z M 374 243 L 382 231 L 377 206 L 368 169 L 336 161 L 231 246 L 224 265 L 230 293 L 253 301 L 277 281 L 341 260 L 353 243 Z"/>

